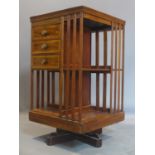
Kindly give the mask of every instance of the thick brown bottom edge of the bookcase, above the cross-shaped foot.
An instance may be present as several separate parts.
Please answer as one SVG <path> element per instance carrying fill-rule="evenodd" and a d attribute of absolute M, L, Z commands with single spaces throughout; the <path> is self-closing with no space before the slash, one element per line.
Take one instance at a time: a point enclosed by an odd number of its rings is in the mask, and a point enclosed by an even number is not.
<path fill-rule="evenodd" d="M 103 115 L 103 117 L 105 116 Z M 61 128 L 67 131 L 83 134 L 123 121 L 124 112 L 117 112 L 115 114 L 109 113 L 105 118 L 102 118 L 102 116 L 99 115 L 99 119 L 97 120 L 80 123 L 77 121 L 66 120 L 61 117 L 49 116 L 44 113 L 31 111 L 29 112 L 29 120 L 55 128 Z"/>

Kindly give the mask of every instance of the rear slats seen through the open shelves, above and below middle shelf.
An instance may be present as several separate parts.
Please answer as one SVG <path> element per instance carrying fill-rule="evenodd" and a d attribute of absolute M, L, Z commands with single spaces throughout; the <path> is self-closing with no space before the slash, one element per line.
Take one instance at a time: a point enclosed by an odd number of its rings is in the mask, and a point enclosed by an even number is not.
<path fill-rule="evenodd" d="M 109 53 L 110 49 L 108 49 L 110 37 L 108 37 L 107 31 L 91 33 L 90 67 L 98 69 L 110 65 L 111 54 Z M 110 108 L 110 80 L 107 74 L 109 73 L 106 71 L 91 73 L 91 105 L 95 106 L 97 111 L 107 112 Z M 107 89 L 108 87 L 109 89 Z"/>

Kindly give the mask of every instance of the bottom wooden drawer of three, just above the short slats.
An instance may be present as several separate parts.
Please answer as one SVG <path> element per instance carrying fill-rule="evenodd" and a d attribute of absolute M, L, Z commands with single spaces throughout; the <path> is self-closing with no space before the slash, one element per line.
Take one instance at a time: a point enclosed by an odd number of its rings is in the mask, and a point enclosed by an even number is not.
<path fill-rule="evenodd" d="M 56 69 L 59 68 L 59 55 L 32 56 L 33 69 Z"/>

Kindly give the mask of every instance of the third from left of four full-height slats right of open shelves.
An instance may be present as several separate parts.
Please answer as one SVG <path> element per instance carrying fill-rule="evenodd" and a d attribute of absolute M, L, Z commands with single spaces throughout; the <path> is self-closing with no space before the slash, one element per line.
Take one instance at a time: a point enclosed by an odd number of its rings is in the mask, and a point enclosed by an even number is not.
<path fill-rule="evenodd" d="M 118 47 L 118 104 L 117 110 L 120 111 L 120 57 L 121 57 L 121 25 L 119 24 L 119 47 Z"/>

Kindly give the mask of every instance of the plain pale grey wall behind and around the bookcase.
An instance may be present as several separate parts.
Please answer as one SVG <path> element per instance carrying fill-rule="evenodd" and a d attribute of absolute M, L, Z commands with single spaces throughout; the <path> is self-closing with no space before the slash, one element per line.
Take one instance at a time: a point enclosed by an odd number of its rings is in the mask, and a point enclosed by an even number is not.
<path fill-rule="evenodd" d="M 134 113 L 135 105 L 135 8 L 134 0 L 21 0 L 19 47 L 19 105 L 27 111 L 30 101 L 30 16 L 85 5 L 126 21 L 125 32 L 125 111 Z M 102 61 L 102 60 L 101 60 Z M 93 97 L 93 95 L 92 95 Z"/>

